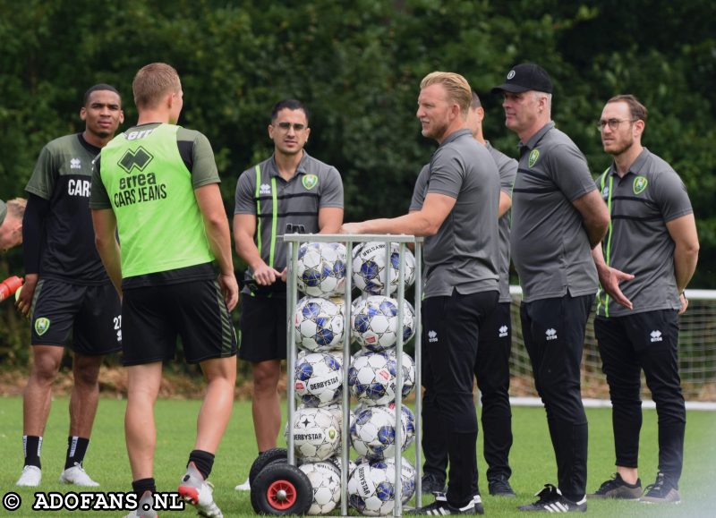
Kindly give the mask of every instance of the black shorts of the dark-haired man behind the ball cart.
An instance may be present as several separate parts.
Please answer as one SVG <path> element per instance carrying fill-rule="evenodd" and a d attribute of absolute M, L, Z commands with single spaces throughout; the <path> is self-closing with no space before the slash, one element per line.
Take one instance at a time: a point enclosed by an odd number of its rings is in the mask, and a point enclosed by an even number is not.
<path fill-rule="evenodd" d="M 244 296 L 239 358 L 252 363 L 286 359 L 286 325 L 286 297 Z"/>

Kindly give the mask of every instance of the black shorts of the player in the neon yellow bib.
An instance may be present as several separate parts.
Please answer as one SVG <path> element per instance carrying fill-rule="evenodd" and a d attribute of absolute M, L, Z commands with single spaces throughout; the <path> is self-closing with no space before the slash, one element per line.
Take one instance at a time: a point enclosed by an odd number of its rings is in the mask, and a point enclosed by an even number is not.
<path fill-rule="evenodd" d="M 187 363 L 236 354 L 236 335 L 214 280 L 124 290 L 124 365 L 173 360 L 182 338 Z"/>

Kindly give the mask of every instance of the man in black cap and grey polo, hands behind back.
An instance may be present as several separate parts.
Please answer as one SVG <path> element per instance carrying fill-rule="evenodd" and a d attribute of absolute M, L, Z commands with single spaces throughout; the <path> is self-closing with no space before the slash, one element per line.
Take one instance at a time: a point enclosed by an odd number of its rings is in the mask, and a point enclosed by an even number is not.
<path fill-rule="evenodd" d="M 523 290 L 524 345 L 547 412 L 558 487 L 547 484 L 521 511 L 586 511 L 587 418 L 580 364 L 597 291 L 592 248 L 609 225 L 586 159 L 551 121 L 552 82 L 537 64 L 518 64 L 492 89 L 504 96 L 505 125 L 520 138 L 512 191 L 512 258 Z"/>

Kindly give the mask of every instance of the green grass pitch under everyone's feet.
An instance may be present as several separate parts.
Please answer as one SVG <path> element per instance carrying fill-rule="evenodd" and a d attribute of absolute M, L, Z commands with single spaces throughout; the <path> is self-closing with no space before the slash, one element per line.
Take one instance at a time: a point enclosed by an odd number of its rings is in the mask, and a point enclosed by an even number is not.
<path fill-rule="evenodd" d="M 85 467 L 98 480 L 105 491 L 126 491 L 131 488 L 131 474 L 124 447 L 124 401 L 102 399 L 99 404 L 90 450 Z M 160 491 L 174 491 L 183 475 L 187 455 L 192 450 L 196 412 L 199 401 L 162 400 L 157 404 L 158 445 L 155 478 Z M 481 479 L 485 514 L 490 516 L 516 516 L 517 504 L 533 500 L 533 494 L 545 482 L 556 483 L 554 457 L 544 411 L 541 408 L 515 408 L 515 445 L 510 455 L 513 468 L 512 485 L 517 499 L 495 498 L 486 495 L 487 488 Z M 593 490 L 613 472 L 613 449 L 610 411 L 588 410 L 589 417 L 589 471 L 588 489 Z M 44 480 L 42 491 L 69 491 L 68 486 L 57 483 L 63 469 L 67 434 L 67 400 L 58 398 L 53 403 L 42 449 Z M 22 467 L 22 401 L 18 397 L 0 398 L 0 455 L 4 469 L 0 473 L 3 494 L 15 491 L 22 498 L 19 510 L 9 513 L 0 507 L 0 515 L 7 516 L 72 516 L 79 512 L 33 512 L 35 490 L 16 488 L 15 481 Z M 716 516 L 716 491 L 712 470 L 716 467 L 716 413 L 689 412 L 686 425 L 686 459 L 681 480 L 681 505 L 643 505 L 636 502 L 590 501 L 591 516 Z M 482 442 L 482 441 L 481 441 Z M 653 481 L 656 473 L 656 413 L 644 411 L 640 470 L 643 484 Z M 482 446 L 482 445 L 481 445 Z M 256 455 L 251 424 L 251 403 L 237 402 L 231 424 L 217 454 L 217 462 L 209 480 L 216 486 L 214 497 L 225 516 L 252 515 L 249 495 L 237 493 L 234 486 L 243 482 Z M 410 457 L 408 457 L 410 458 Z M 484 470 L 482 458 L 478 458 Z M 483 471 L 482 471 L 483 472 Z M 429 500 L 429 499 L 428 499 Z M 81 513 L 88 515 L 87 513 Z M 191 506 L 173 515 L 195 514 Z M 338 513 L 336 513 L 338 514 Z M 99 516 L 122 515 L 98 512 Z M 166 516 L 165 514 L 162 514 Z"/>

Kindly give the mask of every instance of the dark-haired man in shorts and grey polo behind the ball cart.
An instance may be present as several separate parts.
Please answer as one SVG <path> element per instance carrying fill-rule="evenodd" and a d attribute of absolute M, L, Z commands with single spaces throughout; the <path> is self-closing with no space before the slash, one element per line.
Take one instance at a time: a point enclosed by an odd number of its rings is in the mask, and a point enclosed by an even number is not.
<path fill-rule="evenodd" d="M 253 426 L 259 453 L 276 447 L 281 427 L 278 378 L 286 358 L 286 225 L 337 234 L 343 183 L 333 166 L 303 149 L 311 128 L 303 103 L 277 103 L 268 124 L 274 154 L 244 171 L 236 184 L 234 241 L 249 268 L 243 287 L 239 358 L 251 361 Z M 249 490 L 249 481 L 236 486 Z"/>

